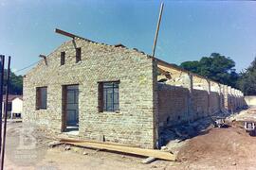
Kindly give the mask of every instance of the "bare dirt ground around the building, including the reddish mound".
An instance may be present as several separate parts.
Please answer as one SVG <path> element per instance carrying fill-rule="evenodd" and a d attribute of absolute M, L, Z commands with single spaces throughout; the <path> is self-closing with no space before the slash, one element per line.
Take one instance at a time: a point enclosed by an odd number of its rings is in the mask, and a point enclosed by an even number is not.
<path fill-rule="evenodd" d="M 175 162 L 142 164 L 143 157 L 69 145 L 49 147 L 52 141 L 35 127 L 9 123 L 5 169 L 256 169 L 256 137 L 236 126 L 211 128 L 183 141 Z M 24 147 L 27 144 L 34 145 Z"/>

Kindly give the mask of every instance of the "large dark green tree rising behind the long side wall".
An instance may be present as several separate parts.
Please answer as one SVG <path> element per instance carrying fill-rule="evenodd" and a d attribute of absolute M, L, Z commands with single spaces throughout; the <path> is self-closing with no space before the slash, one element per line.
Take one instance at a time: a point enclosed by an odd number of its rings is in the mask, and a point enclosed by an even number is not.
<path fill-rule="evenodd" d="M 180 66 L 192 73 L 208 77 L 212 80 L 236 87 L 239 75 L 235 72 L 235 62 L 229 57 L 212 53 L 210 57 L 200 60 L 185 61 Z"/>

